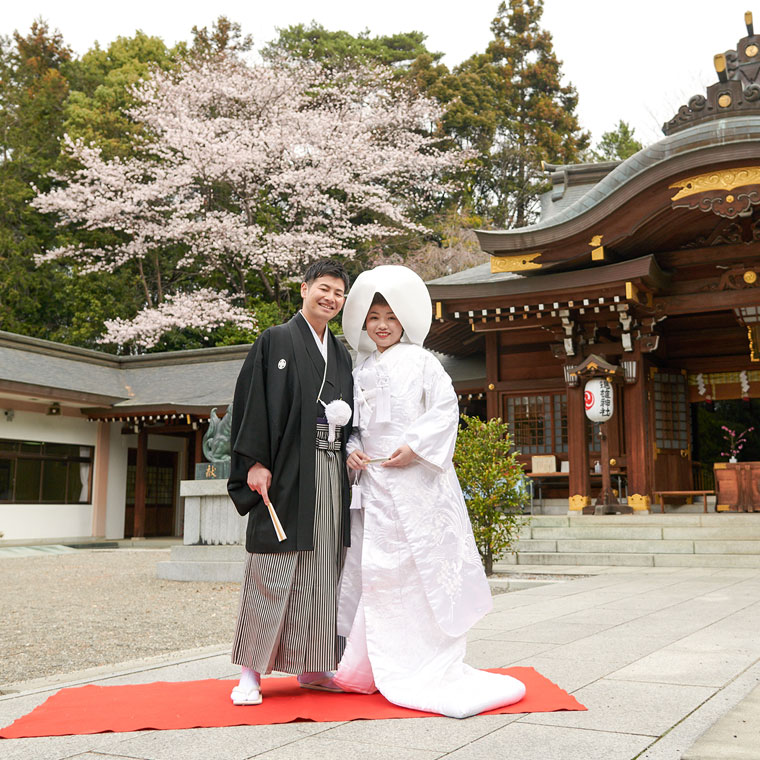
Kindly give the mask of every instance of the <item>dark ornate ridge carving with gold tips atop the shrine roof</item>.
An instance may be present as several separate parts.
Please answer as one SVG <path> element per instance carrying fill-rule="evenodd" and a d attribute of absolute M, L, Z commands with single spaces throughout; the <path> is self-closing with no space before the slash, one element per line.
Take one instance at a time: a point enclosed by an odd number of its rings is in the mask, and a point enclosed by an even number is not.
<path fill-rule="evenodd" d="M 704 121 L 728 116 L 760 115 L 760 35 L 755 34 L 752 14 L 744 16 L 747 36 L 739 40 L 736 50 L 715 56 L 718 81 L 705 95 L 694 95 L 678 113 L 665 122 L 662 131 L 672 135 Z"/>

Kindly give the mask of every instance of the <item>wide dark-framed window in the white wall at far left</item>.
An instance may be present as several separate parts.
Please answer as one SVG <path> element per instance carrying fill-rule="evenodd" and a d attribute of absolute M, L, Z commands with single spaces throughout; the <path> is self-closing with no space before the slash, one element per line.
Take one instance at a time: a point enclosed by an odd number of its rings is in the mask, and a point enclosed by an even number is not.
<path fill-rule="evenodd" d="M 0 439 L 0 502 L 89 504 L 92 446 Z"/>

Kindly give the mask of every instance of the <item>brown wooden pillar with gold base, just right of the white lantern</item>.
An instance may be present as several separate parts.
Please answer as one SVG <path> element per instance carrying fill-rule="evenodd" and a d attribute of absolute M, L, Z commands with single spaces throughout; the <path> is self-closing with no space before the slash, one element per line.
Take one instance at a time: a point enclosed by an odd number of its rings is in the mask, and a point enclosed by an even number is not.
<path fill-rule="evenodd" d="M 647 362 L 636 356 L 636 382 L 623 386 L 625 394 L 625 449 L 628 505 L 648 512 L 652 504 L 652 446 L 649 429 L 649 376 Z"/>

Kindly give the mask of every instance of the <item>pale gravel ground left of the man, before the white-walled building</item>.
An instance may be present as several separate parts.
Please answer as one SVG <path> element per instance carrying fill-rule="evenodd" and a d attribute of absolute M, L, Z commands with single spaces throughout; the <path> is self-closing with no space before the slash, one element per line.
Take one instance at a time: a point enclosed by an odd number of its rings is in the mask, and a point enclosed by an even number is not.
<path fill-rule="evenodd" d="M 231 645 L 238 583 L 156 577 L 169 550 L 0 559 L 3 685 L 183 649 Z"/>

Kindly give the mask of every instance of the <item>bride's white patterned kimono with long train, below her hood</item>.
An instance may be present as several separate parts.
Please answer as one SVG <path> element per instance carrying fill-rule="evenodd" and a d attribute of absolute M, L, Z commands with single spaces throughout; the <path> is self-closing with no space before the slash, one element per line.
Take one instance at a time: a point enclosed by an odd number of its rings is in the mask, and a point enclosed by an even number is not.
<path fill-rule="evenodd" d="M 335 676 L 345 691 L 456 718 L 512 704 L 524 685 L 463 663 L 466 633 L 492 607 L 452 456 L 459 409 L 451 380 L 424 349 L 398 343 L 354 370 L 358 431 L 349 453 L 371 463 L 352 510 L 338 632 L 348 644 Z"/>

